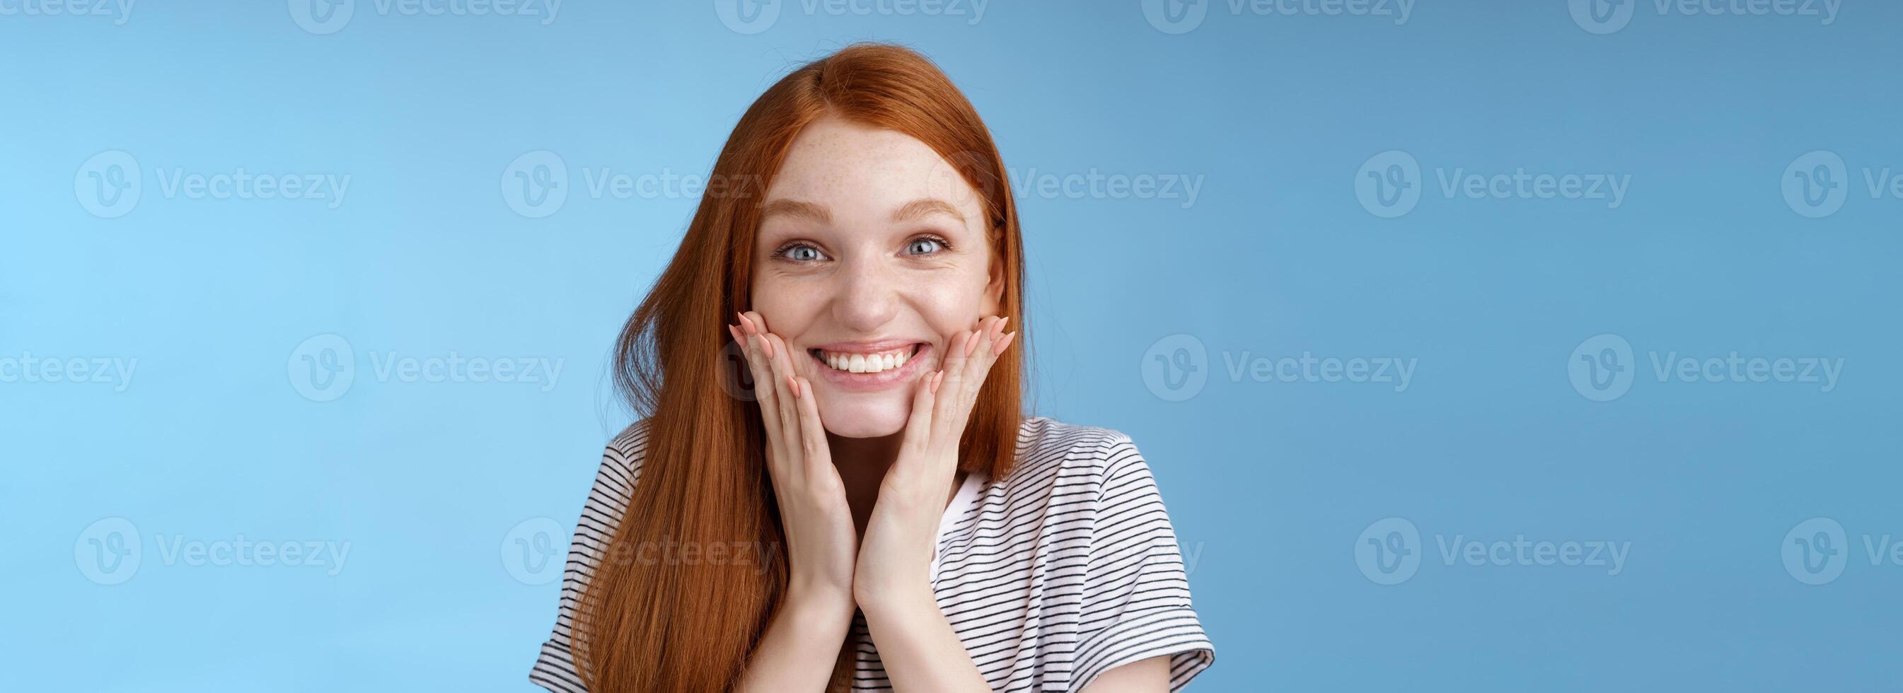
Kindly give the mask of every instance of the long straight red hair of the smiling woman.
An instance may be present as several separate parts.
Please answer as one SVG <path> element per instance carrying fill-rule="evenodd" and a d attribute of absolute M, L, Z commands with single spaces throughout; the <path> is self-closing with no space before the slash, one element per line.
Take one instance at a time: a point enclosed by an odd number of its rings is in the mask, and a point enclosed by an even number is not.
<path fill-rule="evenodd" d="M 725 326 L 750 310 L 754 236 L 771 177 L 801 128 L 818 118 L 894 129 L 936 150 L 980 196 L 999 310 L 1024 331 L 1024 246 L 1005 162 L 952 80 L 923 55 L 854 44 L 807 63 L 740 116 L 714 162 L 674 261 L 620 331 L 615 385 L 647 419 L 639 482 L 582 594 L 575 661 L 590 691 L 725 691 L 735 685 L 786 594 L 786 535 L 765 470 L 757 404 L 731 396 Z M 1028 337 L 1020 335 L 1020 343 Z M 959 468 L 1010 472 L 1022 417 L 1022 348 L 1007 350 L 959 442 Z M 759 565 L 666 565 L 626 560 L 636 546 L 763 546 Z M 834 687 L 851 676 L 851 647 Z"/>

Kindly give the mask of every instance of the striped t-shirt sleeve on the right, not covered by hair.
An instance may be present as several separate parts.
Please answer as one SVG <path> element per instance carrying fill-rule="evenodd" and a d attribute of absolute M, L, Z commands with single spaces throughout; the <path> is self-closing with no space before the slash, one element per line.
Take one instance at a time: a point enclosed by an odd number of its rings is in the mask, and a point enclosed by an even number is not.
<path fill-rule="evenodd" d="M 1168 655 L 1170 691 L 1216 663 L 1216 645 L 1189 605 L 1176 529 L 1136 446 L 1108 444 L 1090 512 L 1090 548 L 1069 691 L 1121 664 Z"/>

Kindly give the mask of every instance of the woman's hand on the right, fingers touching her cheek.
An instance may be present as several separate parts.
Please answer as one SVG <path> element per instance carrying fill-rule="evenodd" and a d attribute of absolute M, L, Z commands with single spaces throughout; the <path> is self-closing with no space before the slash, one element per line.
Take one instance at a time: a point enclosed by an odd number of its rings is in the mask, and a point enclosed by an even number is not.
<path fill-rule="evenodd" d="M 1018 333 L 1005 320 L 984 318 L 978 329 L 952 337 L 942 369 L 919 379 L 898 459 L 879 482 L 853 571 L 853 598 L 877 609 L 900 598 L 931 594 L 938 520 L 957 476 L 959 438 L 991 364 Z"/>

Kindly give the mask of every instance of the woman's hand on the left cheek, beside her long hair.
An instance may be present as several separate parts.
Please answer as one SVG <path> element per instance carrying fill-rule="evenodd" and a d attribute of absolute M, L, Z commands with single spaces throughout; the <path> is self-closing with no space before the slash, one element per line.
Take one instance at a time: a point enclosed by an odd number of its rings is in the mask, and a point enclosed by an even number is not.
<path fill-rule="evenodd" d="M 788 602 L 851 611 L 858 535 L 845 503 L 845 484 L 826 447 L 813 386 L 794 375 L 792 352 L 767 331 L 759 312 L 727 326 L 746 350 L 754 400 L 767 428 L 767 474 L 786 527 Z"/>

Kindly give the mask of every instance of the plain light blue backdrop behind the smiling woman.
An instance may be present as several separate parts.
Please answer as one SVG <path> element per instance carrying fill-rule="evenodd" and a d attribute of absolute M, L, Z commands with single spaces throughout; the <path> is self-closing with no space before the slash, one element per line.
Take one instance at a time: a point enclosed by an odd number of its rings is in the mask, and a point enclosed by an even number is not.
<path fill-rule="evenodd" d="M 558 584 L 502 548 L 523 522 L 573 525 L 628 421 L 611 341 L 695 208 L 590 196 L 584 173 L 706 173 L 761 89 L 854 40 L 932 55 L 1018 183 L 1201 179 L 1193 204 L 1018 200 L 1037 411 L 1149 459 L 1218 649 L 1193 689 L 1903 685 L 1903 565 L 1865 556 L 1903 541 L 1903 200 L 1863 187 L 1903 171 L 1897 4 L 1823 25 L 1638 2 L 1606 34 L 1564 0 L 1422 2 L 1403 23 L 1207 2 L 1174 34 L 1138 2 L 860 8 L 788 0 L 752 34 L 708 2 L 571 0 L 542 23 L 360 0 L 329 34 L 284 2 L 0 15 L 0 360 L 137 360 L 107 383 L 0 371 L 0 689 L 529 689 Z M 82 169 L 108 150 L 143 175 L 112 219 Z M 546 217 L 500 192 L 531 150 L 569 175 Z M 1422 169 L 1395 219 L 1355 192 L 1385 150 Z M 1821 219 L 1779 192 L 1812 150 L 1848 162 Z M 240 168 L 350 187 L 331 209 L 158 181 Z M 1629 190 L 1446 196 L 1454 169 Z M 316 402 L 297 348 L 327 333 L 354 385 Z M 1600 333 L 1631 345 L 1608 402 L 1568 371 Z M 1203 346 L 1199 390 L 1146 385 L 1168 335 Z M 1823 392 L 1650 364 L 1734 350 L 1844 366 Z M 546 390 L 379 379 L 392 352 L 563 369 Z M 1401 392 L 1262 383 L 1229 375 L 1243 352 L 1418 366 Z M 88 567 L 105 518 L 143 548 L 118 584 Z M 1382 518 L 1420 533 L 1399 584 L 1357 562 Z M 1810 518 L 1846 531 L 1825 584 L 1781 560 Z M 337 575 L 162 560 L 238 535 L 350 552 Z M 1456 537 L 1629 558 L 1471 565 L 1441 558 Z"/>

